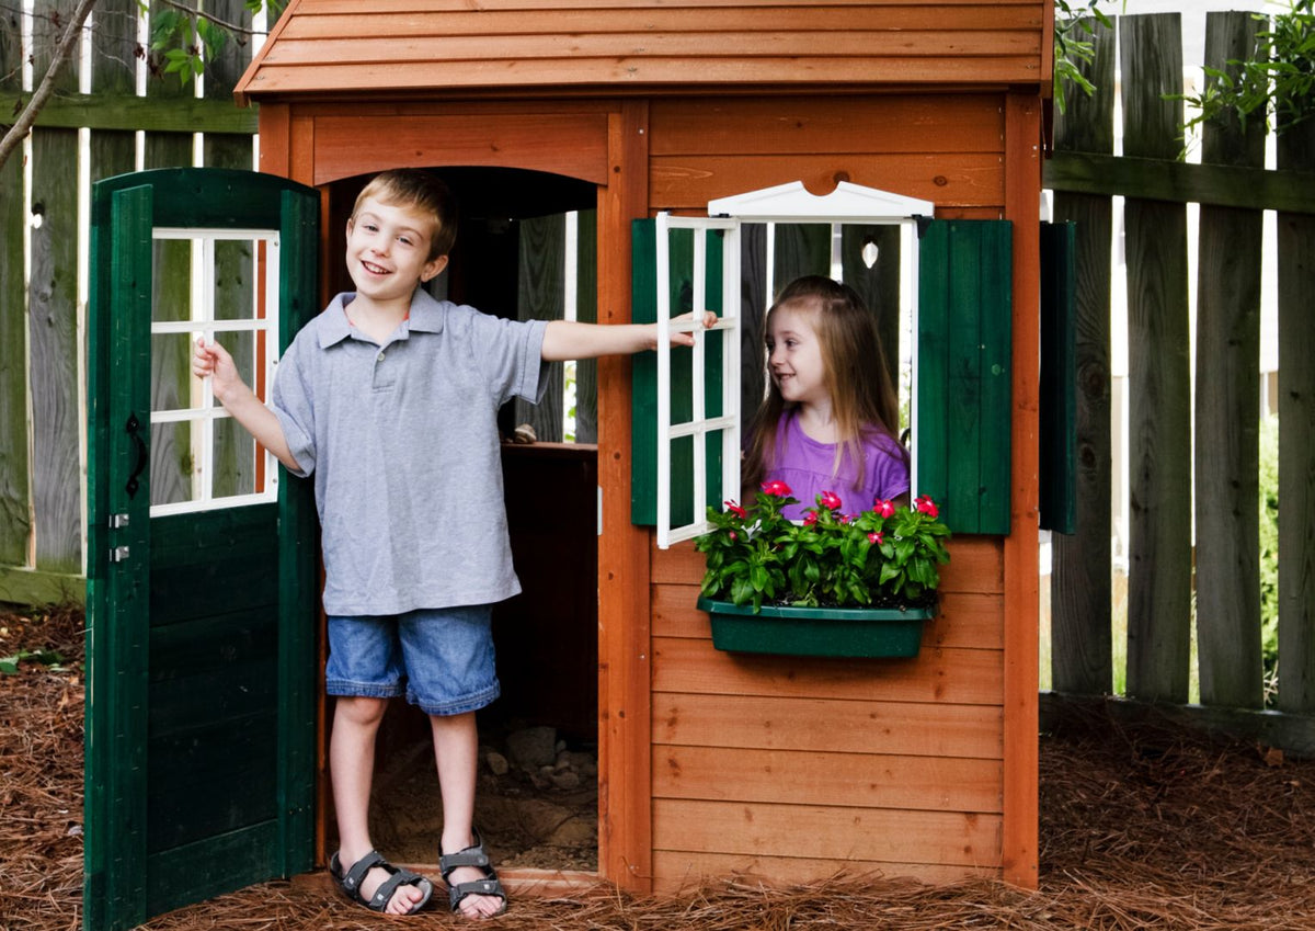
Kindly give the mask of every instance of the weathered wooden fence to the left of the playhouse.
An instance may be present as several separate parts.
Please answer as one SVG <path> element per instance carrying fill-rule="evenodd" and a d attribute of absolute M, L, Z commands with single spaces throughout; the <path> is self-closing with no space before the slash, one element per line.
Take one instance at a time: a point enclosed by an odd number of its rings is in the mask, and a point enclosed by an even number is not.
<path fill-rule="evenodd" d="M 21 84 L 24 55 L 30 51 L 37 80 L 45 72 L 67 7 L 34 1 L 30 49 L 20 45 L 17 5 L 5 11 L 0 29 L 5 112 L 16 112 L 28 96 Z M 242 0 L 208 0 L 206 9 L 246 29 L 251 25 Z M 153 74 L 146 96 L 138 96 L 138 17 L 137 0 L 96 4 L 88 30 L 89 92 L 79 92 L 82 66 L 67 68 L 33 129 L 30 158 L 16 153 L 0 170 L 0 601 L 83 597 L 85 295 L 79 280 L 85 272 L 79 268 L 79 243 L 87 233 L 79 217 L 79 179 L 197 162 L 254 167 L 256 114 L 234 108 L 231 96 L 250 60 L 250 42 L 229 42 L 209 62 L 204 99 L 176 75 L 160 74 Z M 193 155 L 196 131 L 204 131 L 200 160 Z M 25 183 L 30 201 L 24 197 Z M 156 287 L 171 285 L 156 281 Z"/>

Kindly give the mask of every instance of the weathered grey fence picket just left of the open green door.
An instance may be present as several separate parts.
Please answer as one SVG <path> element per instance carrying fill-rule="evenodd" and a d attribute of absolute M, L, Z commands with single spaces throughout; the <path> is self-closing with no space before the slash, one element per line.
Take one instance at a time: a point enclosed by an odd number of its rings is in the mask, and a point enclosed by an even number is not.
<path fill-rule="evenodd" d="M 34 74 L 45 74 L 64 4 L 38 0 Z M 78 89 L 70 62 L 59 89 Z M 21 156 L 16 159 L 21 163 Z M 80 379 L 78 356 L 78 130 L 32 133 L 32 274 L 28 289 L 28 372 L 32 391 L 32 477 L 36 568 L 82 572 Z M 36 220 L 39 218 L 39 226 Z M 21 276 L 20 276 L 21 281 Z"/>

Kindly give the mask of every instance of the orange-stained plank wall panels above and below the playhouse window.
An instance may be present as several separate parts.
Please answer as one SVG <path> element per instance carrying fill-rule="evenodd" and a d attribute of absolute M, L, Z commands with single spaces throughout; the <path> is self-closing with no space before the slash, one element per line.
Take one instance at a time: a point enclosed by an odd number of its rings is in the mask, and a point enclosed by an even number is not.
<path fill-rule="evenodd" d="M 659 99 L 652 209 L 802 179 L 999 217 L 1002 95 Z M 748 313 L 748 309 L 746 309 Z M 652 550 L 655 889 L 747 871 L 948 881 L 1001 874 L 1005 556 L 952 543 L 943 610 L 915 660 L 797 660 L 713 648 L 702 556 Z"/>

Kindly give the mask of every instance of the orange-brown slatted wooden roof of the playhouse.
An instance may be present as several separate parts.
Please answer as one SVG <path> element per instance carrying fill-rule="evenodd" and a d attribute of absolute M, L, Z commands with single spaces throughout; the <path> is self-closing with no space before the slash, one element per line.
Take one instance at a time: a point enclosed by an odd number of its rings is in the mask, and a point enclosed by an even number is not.
<path fill-rule="evenodd" d="M 1041 84 L 1051 0 L 292 0 L 266 96 Z"/>

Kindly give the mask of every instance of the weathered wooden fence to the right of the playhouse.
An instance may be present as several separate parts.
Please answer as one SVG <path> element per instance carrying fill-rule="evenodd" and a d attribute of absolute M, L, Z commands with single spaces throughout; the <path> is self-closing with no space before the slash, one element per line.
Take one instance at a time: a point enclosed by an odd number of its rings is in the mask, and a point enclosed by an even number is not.
<path fill-rule="evenodd" d="M 1227 68 L 1264 24 L 1211 13 L 1206 60 Z M 1127 696 L 1207 727 L 1315 752 L 1315 120 L 1207 125 L 1202 164 L 1181 159 L 1178 14 L 1097 28 L 1090 97 L 1056 114 L 1045 187 L 1077 222 L 1077 530 L 1056 535 L 1056 693 L 1111 692 L 1111 197 L 1124 197 L 1128 327 Z M 1122 82 L 1115 87 L 1115 36 Z M 1120 95 L 1123 154 L 1114 156 Z M 1187 203 L 1201 205 L 1195 359 Z M 1262 210 L 1278 217 L 1279 561 L 1277 707 L 1265 713 L 1258 544 Z M 1194 373 L 1194 379 L 1193 379 Z M 1195 494 L 1193 494 L 1195 488 Z M 1201 705 L 1186 707 L 1195 643 Z M 1064 702 L 1048 696 L 1043 707 Z"/>

